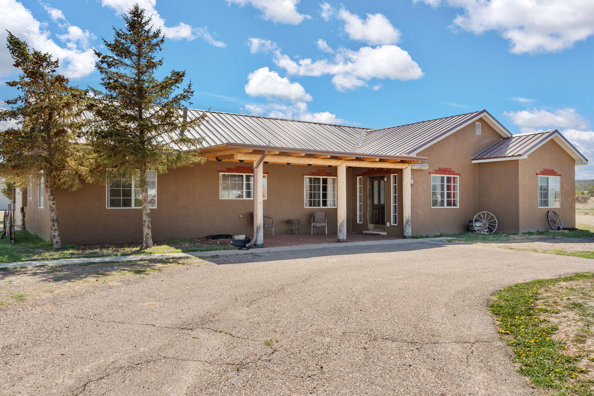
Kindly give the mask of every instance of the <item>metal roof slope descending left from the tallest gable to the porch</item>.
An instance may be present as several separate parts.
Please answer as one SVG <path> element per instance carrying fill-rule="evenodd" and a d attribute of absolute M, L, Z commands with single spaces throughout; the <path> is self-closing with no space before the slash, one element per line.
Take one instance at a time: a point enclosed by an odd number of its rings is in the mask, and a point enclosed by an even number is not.
<path fill-rule="evenodd" d="M 489 115 L 489 113 L 481 110 L 390 128 L 373 129 L 364 132 L 356 151 L 387 155 L 416 155 L 418 151 L 482 115 Z"/>

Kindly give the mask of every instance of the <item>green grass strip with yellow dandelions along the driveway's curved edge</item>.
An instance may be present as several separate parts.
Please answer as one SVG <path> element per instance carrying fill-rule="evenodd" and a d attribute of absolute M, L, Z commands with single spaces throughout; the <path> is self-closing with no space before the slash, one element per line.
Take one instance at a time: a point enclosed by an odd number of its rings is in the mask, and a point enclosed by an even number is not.
<path fill-rule="evenodd" d="M 576 363 L 583 354 L 565 354 L 565 343 L 551 337 L 557 327 L 542 318 L 548 309 L 538 306 L 539 294 L 545 286 L 580 279 L 594 279 L 594 273 L 517 283 L 495 293 L 489 305 L 497 315 L 503 340 L 514 353 L 514 362 L 519 364 L 518 372 L 538 387 L 563 391 L 557 395 L 593 396 L 594 391 L 589 381 L 580 380 L 585 369 Z"/>

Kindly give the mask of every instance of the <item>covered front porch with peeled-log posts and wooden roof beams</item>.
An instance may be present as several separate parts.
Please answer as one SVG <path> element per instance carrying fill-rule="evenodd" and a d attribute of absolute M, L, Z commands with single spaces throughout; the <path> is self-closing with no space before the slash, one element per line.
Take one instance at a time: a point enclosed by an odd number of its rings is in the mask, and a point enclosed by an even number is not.
<path fill-rule="evenodd" d="M 399 205 L 402 205 L 402 211 L 399 214 L 400 221 L 402 221 L 401 230 L 403 232 L 400 236 L 405 238 L 412 237 L 412 226 L 410 220 L 410 186 L 411 186 L 411 170 L 412 169 L 427 169 L 427 165 L 422 163 L 424 157 L 412 157 L 412 156 L 388 156 L 388 155 L 378 155 L 378 154 L 364 154 L 364 153 L 337 153 L 337 152 L 330 152 L 330 151 L 317 151 L 317 150 L 304 150 L 300 148 L 288 148 L 288 147 L 273 147 L 273 146 L 266 146 L 266 145 L 252 145 L 252 144 L 235 144 L 235 143 L 228 143 L 224 145 L 217 145 L 211 146 L 201 149 L 202 154 L 204 157 L 207 157 L 209 161 L 226 161 L 226 162 L 235 162 L 235 163 L 251 163 L 252 166 L 250 167 L 253 171 L 253 182 L 251 186 L 251 196 L 253 197 L 254 201 L 254 209 L 253 209 L 253 235 L 255 236 L 252 238 L 251 245 L 254 245 L 257 248 L 261 248 L 264 246 L 271 247 L 271 246 L 292 246 L 292 245 L 308 245 L 311 243 L 335 243 L 335 242 L 355 242 L 357 240 L 382 240 L 386 238 L 386 235 L 380 236 L 369 236 L 369 235 L 360 235 L 357 232 L 350 232 L 352 228 L 351 223 L 376 223 L 379 224 L 379 221 L 359 221 L 359 212 L 355 216 L 352 213 L 352 207 L 354 202 L 349 202 L 350 207 L 347 207 L 347 197 L 352 197 L 353 192 L 355 189 L 359 189 L 359 185 L 351 185 L 347 191 L 347 183 L 352 182 L 352 180 L 347 179 L 347 169 L 352 169 L 349 171 L 349 174 L 353 174 L 353 171 L 361 169 L 361 172 L 365 172 L 366 170 L 370 169 L 379 169 L 379 170 L 386 170 L 385 173 L 393 174 L 393 173 L 401 173 L 402 177 L 402 184 L 401 184 L 401 192 L 400 196 L 402 197 Z M 302 228 L 301 235 L 287 235 L 283 232 L 277 232 L 276 236 L 264 236 L 264 228 L 265 228 L 265 220 L 266 213 L 263 213 L 264 209 L 264 198 L 263 198 L 263 191 L 264 191 L 264 173 L 267 165 L 271 164 L 274 166 L 278 165 L 300 165 L 300 166 L 315 166 L 315 167 L 327 167 L 327 168 L 334 168 L 333 173 L 334 176 L 331 178 L 335 179 L 335 183 L 330 186 L 328 184 L 328 191 L 331 192 L 332 199 L 333 199 L 333 206 L 327 205 L 320 205 L 323 208 L 333 208 L 335 211 L 334 214 L 336 215 L 336 227 L 332 227 L 336 230 L 336 234 L 324 235 L 318 233 L 317 235 L 311 235 L 310 233 L 303 233 L 305 231 L 305 227 L 308 227 L 308 224 L 302 224 L 305 226 Z M 244 166 L 245 168 L 245 166 Z M 363 168 L 363 169 L 362 169 Z M 365 169 L 367 168 L 367 169 Z M 330 171 L 330 169 L 328 169 Z M 267 173 L 268 171 L 266 171 Z M 317 172 L 326 173 L 323 170 L 317 170 Z M 249 172 L 251 173 L 251 172 Z M 303 175 L 307 175 L 309 177 L 309 173 L 303 173 Z M 359 179 L 359 178 L 357 178 Z M 387 175 L 383 178 L 384 180 L 388 180 Z M 308 179 L 306 179 L 308 180 Z M 384 185 L 384 182 L 381 184 Z M 330 191 L 330 189 L 332 191 Z M 362 189 L 362 186 L 361 186 Z M 371 192 L 371 190 L 370 190 Z M 382 191 L 383 192 L 383 191 Z M 304 198 L 305 201 L 308 201 L 308 191 L 306 189 L 306 197 Z M 359 194 L 359 192 L 357 193 Z M 361 192 L 362 194 L 362 192 Z M 295 197 L 293 195 L 293 197 Z M 352 199 L 352 198 L 351 198 Z M 268 202 L 267 205 L 270 205 L 271 202 Z M 382 204 L 384 202 L 381 202 Z M 294 204 L 293 204 L 294 205 Z M 357 204 L 358 205 L 358 204 Z M 316 206 L 311 206 L 306 203 L 306 208 L 315 208 Z M 303 207 L 302 207 L 303 208 Z M 290 211 L 295 210 L 292 205 L 287 204 L 286 212 L 289 213 Z M 284 212 L 284 210 L 282 209 Z M 347 219 L 347 213 L 349 213 L 349 217 L 353 216 L 353 218 Z M 371 213 L 371 212 L 370 212 Z M 356 219 L 355 219 L 356 217 Z M 383 225 L 390 226 L 391 220 L 386 220 L 385 214 L 381 214 L 381 218 L 384 218 Z M 378 218 L 380 218 L 378 217 Z M 292 217 L 289 217 L 292 218 Z M 349 223 L 350 221 L 350 223 Z M 376 227 L 372 227 L 369 229 L 375 230 Z M 354 229 L 353 229 L 354 231 Z M 319 231 L 318 231 L 319 232 Z M 282 235 L 285 234 L 285 235 Z M 385 234 L 385 232 L 384 232 Z M 375 239 L 372 239 L 375 238 Z M 399 239 L 398 236 L 390 236 L 388 238 Z M 266 241 L 265 241 L 266 239 Z M 270 242 L 267 242 L 270 239 Z"/>

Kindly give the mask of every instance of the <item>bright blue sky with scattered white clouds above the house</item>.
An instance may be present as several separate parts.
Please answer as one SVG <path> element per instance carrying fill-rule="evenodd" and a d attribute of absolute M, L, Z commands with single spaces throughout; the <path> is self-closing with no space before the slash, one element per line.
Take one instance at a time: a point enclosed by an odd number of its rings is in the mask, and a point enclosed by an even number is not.
<path fill-rule="evenodd" d="M 61 58 L 72 83 L 99 87 L 90 47 L 134 2 L 0 0 L 0 28 Z M 140 4 L 168 37 L 163 73 L 193 81 L 193 108 L 369 128 L 487 109 L 514 133 L 560 129 L 594 158 L 592 1 Z M 594 178 L 594 165 L 576 175 Z"/>

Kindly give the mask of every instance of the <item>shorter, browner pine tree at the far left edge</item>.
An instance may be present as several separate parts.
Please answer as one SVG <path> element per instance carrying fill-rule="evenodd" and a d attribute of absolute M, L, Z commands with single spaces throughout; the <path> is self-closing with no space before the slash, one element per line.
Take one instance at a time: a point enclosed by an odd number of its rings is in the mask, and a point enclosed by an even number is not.
<path fill-rule="evenodd" d="M 51 239 L 54 249 L 62 247 L 54 190 L 75 190 L 90 181 L 89 150 L 78 144 L 86 121 L 83 110 L 87 91 L 71 87 L 58 74 L 59 61 L 48 53 L 30 50 L 10 31 L 7 47 L 18 80 L 8 81 L 20 94 L 6 100 L 8 110 L 0 121 L 16 121 L 17 126 L 0 132 L 0 176 L 24 188 L 31 178 L 43 177 L 48 197 Z"/>

